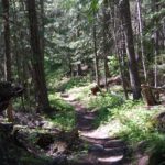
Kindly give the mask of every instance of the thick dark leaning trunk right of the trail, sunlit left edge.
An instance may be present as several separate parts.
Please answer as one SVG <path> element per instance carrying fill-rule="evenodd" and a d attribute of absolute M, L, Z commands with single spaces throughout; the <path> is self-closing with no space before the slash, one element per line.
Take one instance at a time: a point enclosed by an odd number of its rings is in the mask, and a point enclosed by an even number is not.
<path fill-rule="evenodd" d="M 129 59 L 129 73 L 130 73 L 131 87 L 133 91 L 133 99 L 140 99 L 141 82 L 140 82 L 139 70 L 138 70 L 138 62 L 135 59 L 129 0 L 120 0 L 119 10 L 120 10 L 120 15 L 124 28 L 127 54 Z"/>

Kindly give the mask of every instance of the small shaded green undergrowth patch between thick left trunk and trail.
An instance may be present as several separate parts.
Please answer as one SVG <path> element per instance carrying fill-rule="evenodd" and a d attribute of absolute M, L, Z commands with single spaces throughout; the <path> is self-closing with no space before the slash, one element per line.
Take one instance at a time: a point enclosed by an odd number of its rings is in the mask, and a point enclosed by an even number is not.
<path fill-rule="evenodd" d="M 51 121 L 63 130 L 72 130 L 75 127 L 74 108 L 64 101 L 59 95 L 50 95 L 51 106 L 56 108 L 56 111 L 51 114 Z"/>

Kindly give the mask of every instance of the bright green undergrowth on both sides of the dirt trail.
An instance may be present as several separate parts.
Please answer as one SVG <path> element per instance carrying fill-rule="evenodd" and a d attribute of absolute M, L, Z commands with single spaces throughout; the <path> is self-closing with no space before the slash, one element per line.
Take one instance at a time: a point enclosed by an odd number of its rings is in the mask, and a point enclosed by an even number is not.
<path fill-rule="evenodd" d="M 165 151 L 164 134 L 155 127 L 155 116 L 163 111 L 162 106 L 147 109 L 142 100 L 125 100 L 120 86 L 111 88 L 110 92 L 92 96 L 90 88 L 94 84 L 72 79 L 63 84 L 63 89 L 73 98 L 79 100 L 88 110 L 97 110 L 95 124 L 98 128 L 108 125 L 110 136 L 120 136 L 131 145 L 147 142 L 148 151 Z M 58 107 L 59 113 L 52 117 L 54 123 L 63 128 L 73 128 L 75 113 L 73 108 L 61 99 L 51 95 L 51 102 Z"/>

